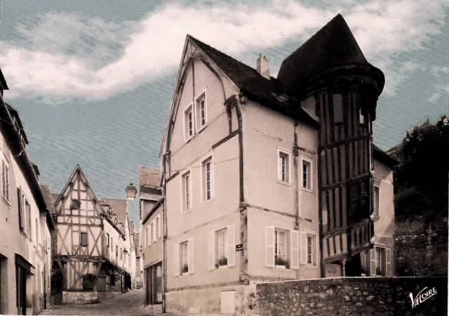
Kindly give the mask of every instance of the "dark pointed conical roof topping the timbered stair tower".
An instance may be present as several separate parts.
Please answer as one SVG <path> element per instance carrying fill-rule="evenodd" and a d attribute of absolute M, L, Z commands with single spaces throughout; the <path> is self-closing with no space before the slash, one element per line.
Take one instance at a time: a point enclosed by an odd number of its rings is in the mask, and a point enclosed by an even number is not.
<path fill-rule="evenodd" d="M 341 65 L 373 67 L 339 14 L 283 60 L 278 79 L 286 91 L 293 93 L 297 88 L 304 88 L 311 76 Z"/>

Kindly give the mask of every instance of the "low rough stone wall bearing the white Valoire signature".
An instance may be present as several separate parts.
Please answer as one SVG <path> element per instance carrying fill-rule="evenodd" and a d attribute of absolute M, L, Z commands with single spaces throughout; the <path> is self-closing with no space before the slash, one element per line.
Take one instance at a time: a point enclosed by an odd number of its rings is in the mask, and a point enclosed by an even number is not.
<path fill-rule="evenodd" d="M 447 315 L 447 277 L 340 277 L 256 285 L 258 315 Z M 412 308 L 410 292 L 437 294 Z M 427 291 L 427 290 L 425 290 Z M 424 292 L 425 292 L 424 291 Z"/>

